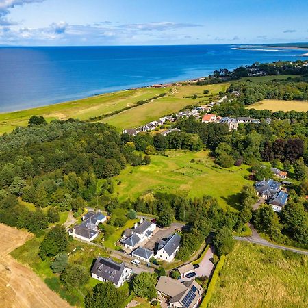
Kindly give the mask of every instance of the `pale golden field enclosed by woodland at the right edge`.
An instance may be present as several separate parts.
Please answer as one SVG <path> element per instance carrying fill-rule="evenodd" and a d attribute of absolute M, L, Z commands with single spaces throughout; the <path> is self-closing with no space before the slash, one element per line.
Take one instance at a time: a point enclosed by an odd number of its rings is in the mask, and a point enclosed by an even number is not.
<path fill-rule="evenodd" d="M 247 107 L 248 109 L 257 110 L 272 110 L 275 111 L 291 111 L 296 110 L 297 112 L 308 111 L 308 101 L 283 101 L 281 99 L 264 99 Z"/>

